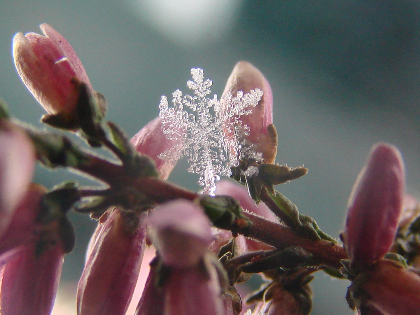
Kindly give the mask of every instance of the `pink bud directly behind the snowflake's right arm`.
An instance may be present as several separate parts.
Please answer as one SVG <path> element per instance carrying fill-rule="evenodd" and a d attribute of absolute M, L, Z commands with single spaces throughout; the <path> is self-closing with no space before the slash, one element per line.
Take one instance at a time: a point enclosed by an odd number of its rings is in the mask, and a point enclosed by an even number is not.
<path fill-rule="evenodd" d="M 241 121 L 250 128 L 247 139 L 255 145 L 255 151 L 262 152 L 265 163 L 274 163 L 277 133 L 273 126 L 273 92 L 267 79 L 251 63 L 239 61 L 229 76 L 223 95 L 230 92 L 236 96 L 238 91 L 245 94 L 255 88 L 262 90 L 262 98 L 250 115 L 241 116 Z"/>

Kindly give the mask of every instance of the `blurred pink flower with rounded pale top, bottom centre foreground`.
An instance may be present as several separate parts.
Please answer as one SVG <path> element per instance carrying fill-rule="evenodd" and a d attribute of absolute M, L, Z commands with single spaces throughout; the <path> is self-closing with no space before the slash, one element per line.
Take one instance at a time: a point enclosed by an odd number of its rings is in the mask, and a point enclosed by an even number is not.
<path fill-rule="evenodd" d="M 222 315 L 217 260 L 207 250 L 211 223 L 202 209 L 189 201 L 168 202 L 153 211 L 148 223 L 158 258 L 136 315 Z M 166 270 L 160 288 L 158 270 Z"/>

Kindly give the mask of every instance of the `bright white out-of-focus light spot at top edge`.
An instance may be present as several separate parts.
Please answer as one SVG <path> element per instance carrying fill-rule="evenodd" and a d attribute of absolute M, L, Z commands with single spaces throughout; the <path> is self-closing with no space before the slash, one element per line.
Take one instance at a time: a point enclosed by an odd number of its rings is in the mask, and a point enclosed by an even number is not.
<path fill-rule="evenodd" d="M 127 0 L 142 20 L 181 44 L 217 39 L 232 26 L 242 0 Z"/>

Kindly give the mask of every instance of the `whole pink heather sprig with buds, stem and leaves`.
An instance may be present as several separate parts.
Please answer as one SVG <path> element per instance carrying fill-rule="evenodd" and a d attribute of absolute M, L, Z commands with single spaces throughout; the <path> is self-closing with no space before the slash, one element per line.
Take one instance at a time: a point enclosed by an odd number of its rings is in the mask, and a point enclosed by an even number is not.
<path fill-rule="evenodd" d="M 27 126 L 0 104 L 2 315 L 51 313 L 65 254 L 75 244 L 69 211 L 98 221 L 77 288 L 78 315 L 239 315 L 244 304 L 258 315 L 308 315 L 318 271 L 351 282 L 346 300 L 360 315 L 420 315 L 420 206 L 405 194 L 396 147 L 372 147 L 340 242 L 274 187 L 308 170 L 275 164 L 273 94 L 252 64 L 237 63 L 223 92 L 233 99 L 262 91 L 252 112 L 231 117 L 247 125 L 244 154 L 231 170 L 239 184 L 222 180 L 210 196 L 167 181 L 176 159 L 161 157 L 180 145 L 186 130 L 169 139 L 158 117 L 129 140 L 105 121 L 105 98 L 70 44 L 51 26 L 41 29 L 44 35 L 13 38 L 18 74 L 47 111 L 42 121 L 76 134 L 89 148 Z M 232 136 L 231 126 L 224 127 Z M 258 156 L 245 154 L 250 147 Z M 77 171 L 99 186 L 64 182 L 48 190 L 32 183 L 36 162 Z M 143 260 L 154 250 L 153 259 Z M 253 274 L 265 283 L 246 296 L 237 284 Z M 135 294 L 142 280 L 144 289 Z"/>

